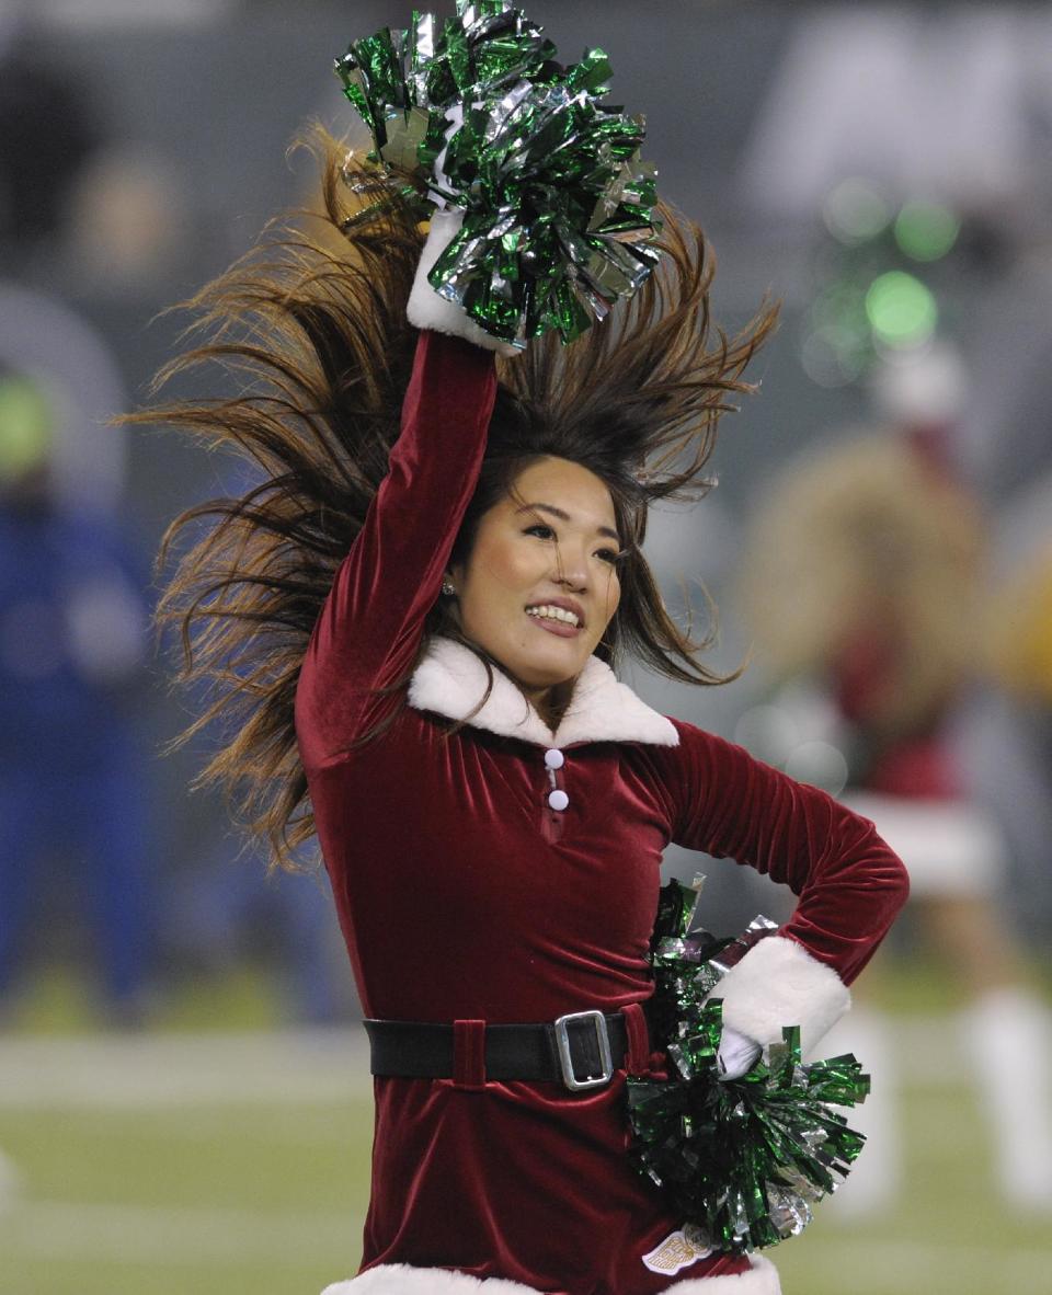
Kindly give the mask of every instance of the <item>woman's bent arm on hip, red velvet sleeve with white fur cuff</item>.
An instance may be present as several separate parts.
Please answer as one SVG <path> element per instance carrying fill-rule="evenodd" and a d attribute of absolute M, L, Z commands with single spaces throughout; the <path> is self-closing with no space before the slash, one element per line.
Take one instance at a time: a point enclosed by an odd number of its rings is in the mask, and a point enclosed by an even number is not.
<path fill-rule="evenodd" d="M 808 1052 L 850 1006 L 847 985 L 906 903 L 906 868 L 868 818 L 744 747 L 675 723 L 672 840 L 748 864 L 798 896 L 779 932 L 720 982 L 724 1022 L 762 1044 L 799 1026 Z"/>

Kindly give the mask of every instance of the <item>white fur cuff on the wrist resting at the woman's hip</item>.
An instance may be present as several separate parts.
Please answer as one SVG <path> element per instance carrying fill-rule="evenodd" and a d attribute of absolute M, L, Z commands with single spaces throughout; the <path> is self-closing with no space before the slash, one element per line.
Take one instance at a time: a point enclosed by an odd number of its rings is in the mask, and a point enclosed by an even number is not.
<path fill-rule="evenodd" d="M 785 1026 L 799 1026 L 805 1055 L 851 1006 L 851 995 L 837 973 L 781 935 L 749 949 L 713 997 L 723 998 L 723 1019 L 732 1030 L 764 1046 L 780 1042 Z"/>

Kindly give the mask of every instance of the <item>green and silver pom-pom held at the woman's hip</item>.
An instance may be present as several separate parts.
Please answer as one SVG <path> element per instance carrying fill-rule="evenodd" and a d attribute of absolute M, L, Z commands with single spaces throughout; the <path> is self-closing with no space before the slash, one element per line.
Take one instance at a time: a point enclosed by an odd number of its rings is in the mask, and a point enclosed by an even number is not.
<path fill-rule="evenodd" d="M 678 882 L 662 888 L 652 1019 L 670 1079 L 628 1080 L 632 1159 L 689 1220 L 698 1244 L 759 1250 L 801 1233 L 815 1203 L 850 1172 L 864 1137 L 833 1107 L 864 1101 L 869 1076 L 851 1055 L 805 1066 L 792 1027 L 767 1062 L 722 1081 L 722 1004 L 705 1000 L 773 923 L 758 918 L 744 936 L 715 940 L 688 934 L 693 906 Z"/>

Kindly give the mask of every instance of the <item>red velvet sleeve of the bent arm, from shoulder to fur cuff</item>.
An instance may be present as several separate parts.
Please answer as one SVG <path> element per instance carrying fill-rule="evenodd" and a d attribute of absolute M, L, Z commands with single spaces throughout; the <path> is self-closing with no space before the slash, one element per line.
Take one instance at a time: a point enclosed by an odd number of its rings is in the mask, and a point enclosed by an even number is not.
<path fill-rule="evenodd" d="M 691 724 L 674 721 L 672 839 L 749 864 L 792 888 L 798 904 L 779 932 L 850 984 L 906 903 L 906 868 L 868 818 L 818 787 Z"/>

